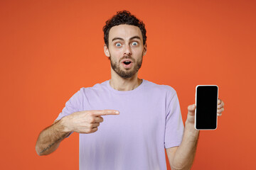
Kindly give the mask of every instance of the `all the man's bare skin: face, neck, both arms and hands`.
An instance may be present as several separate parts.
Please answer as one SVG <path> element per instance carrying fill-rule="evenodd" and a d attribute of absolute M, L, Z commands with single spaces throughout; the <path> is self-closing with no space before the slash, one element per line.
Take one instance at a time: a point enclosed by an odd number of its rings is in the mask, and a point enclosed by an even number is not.
<path fill-rule="evenodd" d="M 119 25 L 110 29 L 109 47 L 104 45 L 104 52 L 112 62 L 110 86 L 118 91 L 136 89 L 142 83 L 138 78 L 137 66 L 146 55 L 146 44 L 143 45 L 142 32 L 136 26 Z M 125 68 L 124 58 L 132 60 L 132 67 Z M 113 67 L 115 64 L 115 67 Z M 120 76 L 122 72 L 122 76 Z M 128 75 L 129 76 L 126 76 Z M 191 169 L 196 154 L 199 130 L 195 127 L 195 104 L 188 106 L 183 140 L 179 147 L 166 149 L 171 169 Z M 218 115 L 224 111 L 224 103 L 218 100 Z M 82 111 L 72 113 L 56 121 L 41 132 L 36 142 L 36 152 L 39 155 L 50 154 L 58 148 L 60 142 L 70 132 L 92 133 L 98 130 L 102 123 L 102 115 L 118 115 L 118 111 Z"/>

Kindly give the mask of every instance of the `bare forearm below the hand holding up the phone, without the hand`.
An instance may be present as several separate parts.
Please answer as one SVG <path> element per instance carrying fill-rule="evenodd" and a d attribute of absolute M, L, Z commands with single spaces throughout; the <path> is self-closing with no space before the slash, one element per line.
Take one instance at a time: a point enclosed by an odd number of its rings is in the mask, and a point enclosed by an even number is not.
<path fill-rule="evenodd" d="M 199 130 L 193 123 L 186 123 L 181 145 L 176 150 L 172 160 L 172 169 L 191 169 L 196 154 Z"/>

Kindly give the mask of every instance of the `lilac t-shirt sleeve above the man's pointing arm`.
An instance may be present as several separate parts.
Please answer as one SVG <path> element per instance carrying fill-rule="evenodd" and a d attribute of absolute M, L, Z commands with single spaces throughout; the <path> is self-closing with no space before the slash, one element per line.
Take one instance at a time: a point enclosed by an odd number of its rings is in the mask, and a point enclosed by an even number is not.
<path fill-rule="evenodd" d="M 82 111 L 82 91 L 83 88 L 80 89 L 77 93 L 75 93 L 68 101 L 65 103 L 65 107 L 62 112 L 58 115 L 56 120 L 60 120 L 66 115 L 70 115 L 72 113 Z"/>

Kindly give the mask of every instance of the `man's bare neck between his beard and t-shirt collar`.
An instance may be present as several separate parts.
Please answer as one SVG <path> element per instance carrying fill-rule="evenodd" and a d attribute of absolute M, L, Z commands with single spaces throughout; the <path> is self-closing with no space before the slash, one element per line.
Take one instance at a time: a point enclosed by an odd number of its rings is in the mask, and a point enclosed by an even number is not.
<path fill-rule="evenodd" d="M 110 79 L 110 86 L 118 91 L 131 91 L 136 89 L 140 84 L 142 84 L 142 79 L 138 78 L 138 73 L 127 79 L 119 77 L 118 74 L 112 74 Z"/>

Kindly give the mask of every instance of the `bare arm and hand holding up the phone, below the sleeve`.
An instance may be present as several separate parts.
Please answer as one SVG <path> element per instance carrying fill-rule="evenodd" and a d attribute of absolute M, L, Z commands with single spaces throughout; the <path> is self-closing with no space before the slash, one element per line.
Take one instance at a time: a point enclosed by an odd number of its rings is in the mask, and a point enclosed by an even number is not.
<path fill-rule="evenodd" d="M 199 130 L 195 129 L 196 105 L 188 106 L 188 116 L 185 123 L 183 139 L 179 147 L 166 149 L 171 169 L 191 169 L 196 154 Z M 217 115 L 224 111 L 224 103 L 218 99 Z"/>

